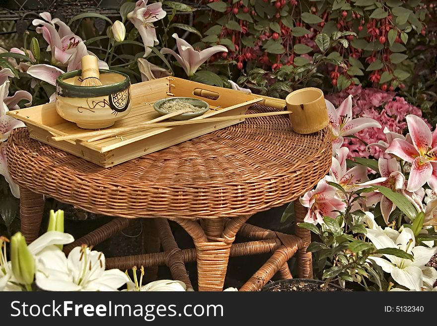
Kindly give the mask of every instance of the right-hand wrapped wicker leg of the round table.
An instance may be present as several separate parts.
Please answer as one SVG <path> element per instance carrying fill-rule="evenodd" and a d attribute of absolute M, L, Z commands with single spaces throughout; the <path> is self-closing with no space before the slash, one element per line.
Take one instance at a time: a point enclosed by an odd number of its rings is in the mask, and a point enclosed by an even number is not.
<path fill-rule="evenodd" d="M 303 222 L 307 212 L 307 208 L 303 207 L 299 200 L 294 200 L 294 216 L 295 216 L 295 227 L 294 233 L 300 239 L 302 239 L 303 246 L 297 251 L 297 264 L 299 267 L 299 277 L 300 278 L 312 278 L 312 254 L 306 252 L 311 243 L 311 234 L 307 229 L 299 228 L 297 223 Z"/>

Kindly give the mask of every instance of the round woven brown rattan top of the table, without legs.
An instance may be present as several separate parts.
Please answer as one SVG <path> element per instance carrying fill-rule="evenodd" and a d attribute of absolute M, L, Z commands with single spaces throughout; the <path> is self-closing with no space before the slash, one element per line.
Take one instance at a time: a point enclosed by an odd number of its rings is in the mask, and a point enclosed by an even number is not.
<path fill-rule="evenodd" d="M 20 186 L 90 212 L 235 217 L 282 205 L 311 189 L 331 165 L 331 139 L 328 129 L 294 133 L 287 116 L 254 118 L 102 168 L 31 139 L 20 128 L 11 133 L 6 155 Z"/>

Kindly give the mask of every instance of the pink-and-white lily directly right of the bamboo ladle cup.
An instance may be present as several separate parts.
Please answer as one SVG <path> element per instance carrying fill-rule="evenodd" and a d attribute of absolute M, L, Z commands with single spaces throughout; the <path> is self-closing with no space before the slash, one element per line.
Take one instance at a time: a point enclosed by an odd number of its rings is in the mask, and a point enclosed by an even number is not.
<path fill-rule="evenodd" d="M 341 147 L 344 141 L 343 136 L 354 134 L 365 128 L 381 128 L 381 125 L 376 120 L 370 118 L 352 119 L 352 95 L 349 95 L 337 110 L 331 102 L 325 101 L 331 127 L 333 150 Z"/>

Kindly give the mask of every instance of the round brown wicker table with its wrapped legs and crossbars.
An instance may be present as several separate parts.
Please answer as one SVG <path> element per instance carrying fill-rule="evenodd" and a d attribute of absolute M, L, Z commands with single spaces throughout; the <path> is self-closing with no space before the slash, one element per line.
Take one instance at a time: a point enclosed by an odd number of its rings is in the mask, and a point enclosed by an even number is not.
<path fill-rule="evenodd" d="M 220 291 L 229 256 L 271 252 L 240 289 L 258 290 L 277 272 L 291 278 L 287 261 L 296 252 L 299 277 L 312 276 L 309 231 L 296 227 L 295 236 L 286 235 L 245 222 L 256 212 L 297 199 L 323 178 L 331 165 L 330 141 L 327 129 L 296 134 L 288 117 L 276 116 L 247 119 L 106 169 L 31 139 L 25 128 L 11 133 L 6 154 L 20 187 L 21 229 L 29 242 L 38 236 L 43 195 L 121 217 L 66 246 L 67 252 L 80 243 L 101 242 L 125 228 L 129 218 L 154 217 L 155 223 L 144 219 L 149 254 L 110 258 L 107 267 L 167 264 L 175 279 L 191 287 L 184 263 L 196 260 L 199 290 Z M 296 200 L 296 222 L 305 213 Z M 178 248 L 167 219 L 190 234 L 195 249 Z M 255 241 L 232 245 L 237 232 Z"/>

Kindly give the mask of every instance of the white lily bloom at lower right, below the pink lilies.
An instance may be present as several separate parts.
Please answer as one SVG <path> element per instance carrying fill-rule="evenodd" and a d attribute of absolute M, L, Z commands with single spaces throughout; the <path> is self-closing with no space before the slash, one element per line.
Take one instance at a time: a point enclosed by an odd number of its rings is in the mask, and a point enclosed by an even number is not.
<path fill-rule="evenodd" d="M 390 273 L 398 284 L 410 290 L 420 291 L 424 283 L 428 284 L 431 281 L 431 277 L 427 275 L 429 267 L 425 264 L 437 253 L 437 247 L 416 247 L 414 233 L 410 228 L 403 228 L 401 233 L 390 228 L 385 228 L 384 231 L 380 228 L 366 231 L 367 237 L 376 249 L 397 248 L 413 255 L 413 261 L 392 255 L 383 255 L 385 258 L 369 257 L 385 272 Z"/>

